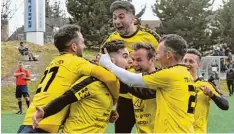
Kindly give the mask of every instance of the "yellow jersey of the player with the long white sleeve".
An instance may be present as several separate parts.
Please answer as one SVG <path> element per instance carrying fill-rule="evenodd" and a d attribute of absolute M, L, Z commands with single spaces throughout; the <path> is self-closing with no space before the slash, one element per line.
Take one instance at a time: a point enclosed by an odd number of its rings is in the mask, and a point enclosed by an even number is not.
<path fill-rule="evenodd" d="M 157 92 L 154 133 L 193 133 L 196 92 L 187 67 L 175 65 L 143 80 Z"/>

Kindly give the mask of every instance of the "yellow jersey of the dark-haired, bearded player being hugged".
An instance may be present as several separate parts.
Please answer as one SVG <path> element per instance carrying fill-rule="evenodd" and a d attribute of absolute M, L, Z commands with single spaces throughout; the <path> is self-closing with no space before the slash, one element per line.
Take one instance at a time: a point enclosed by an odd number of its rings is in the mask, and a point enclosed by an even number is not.
<path fill-rule="evenodd" d="M 84 79 L 84 76 L 74 85 Z M 76 90 L 76 89 L 72 89 Z M 107 129 L 113 100 L 106 86 L 95 81 L 75 92 L 78 101 L 70 105 L 70 114 L 64 124 L 65 133 L 104 133 Z"/>

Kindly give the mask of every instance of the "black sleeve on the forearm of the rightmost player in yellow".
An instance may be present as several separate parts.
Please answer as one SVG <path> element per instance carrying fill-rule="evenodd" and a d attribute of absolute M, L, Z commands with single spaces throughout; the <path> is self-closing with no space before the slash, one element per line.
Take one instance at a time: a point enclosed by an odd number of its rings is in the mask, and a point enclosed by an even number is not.
<path fill-rule="evenodd" d="M 222 110 L 228 110 L 229 109 L 229 104 L 226 99 L 223 97 L 219 97 L 216 95 L 213 95 L 211 99 L 215 102 L 215 104 Z"/>

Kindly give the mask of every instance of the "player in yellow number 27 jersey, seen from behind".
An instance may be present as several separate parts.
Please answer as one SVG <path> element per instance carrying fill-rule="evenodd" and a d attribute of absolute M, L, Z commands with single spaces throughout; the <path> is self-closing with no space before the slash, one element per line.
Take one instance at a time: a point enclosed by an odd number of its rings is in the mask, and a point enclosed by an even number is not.
<path fill-rule="evenodd" d="M 36 95 L 27 110 L 23 125 L 18 130 L 19 133 L 57 132 L 63 121 L 60 115 L 66 109 L 43 120 L 39 128 L 33 130 L 31 125 L 33 113 L 36 111 L 35 107 L 44 107 L 48 102 L 62 95 L 82 75 L 91 75 L 100 79 L 110 89 L 115 90 L 115 93 L 119 90 L 118 80 L 112 73 L 78 57 L 82 56 L 83 48 L 85 47 L 84 39 L 78 26 L 66 25 L 60 28 L 54 37 L 54 41 L 61 55 L 52 60 L 46 68 Z M 108 80 L 105 78 L 106 75 L 109 76 Z M 114 97 L 117 97 L 117 95 L 114 95 Z"/>

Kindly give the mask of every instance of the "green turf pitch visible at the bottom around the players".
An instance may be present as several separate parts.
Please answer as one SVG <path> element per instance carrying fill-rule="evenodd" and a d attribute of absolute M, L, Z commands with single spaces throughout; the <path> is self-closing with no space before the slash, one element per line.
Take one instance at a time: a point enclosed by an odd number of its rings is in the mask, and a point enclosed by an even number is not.
<path fill-rule="evenodd" d="M 228 111 L 220 110 L 214 103 L 210 108 L 208 132 L 209 133 L 234 133 L 234 96 L 227 97 L 230 108 Z M 2 133 L 16 133 L 22 124 L 24 114 L 16 115 L 14 113 L 2 113 Z M 114 132 L 114 124 L 109 124 L 107 133 Z M 132 130 L 135 132 L 135 128 Z"/>

